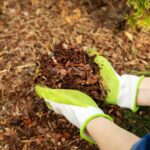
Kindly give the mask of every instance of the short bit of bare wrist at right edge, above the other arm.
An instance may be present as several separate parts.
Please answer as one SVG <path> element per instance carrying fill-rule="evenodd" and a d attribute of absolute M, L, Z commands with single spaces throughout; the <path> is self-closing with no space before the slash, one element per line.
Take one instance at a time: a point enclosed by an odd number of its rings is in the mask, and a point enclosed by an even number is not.
<path fill-rule="evenodd" d="M 138 106 L 150 106 L 150 78 L 145 78 L 139 87 L 137 95 Z"/>

